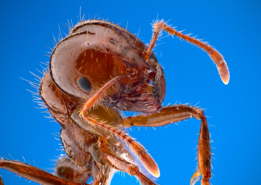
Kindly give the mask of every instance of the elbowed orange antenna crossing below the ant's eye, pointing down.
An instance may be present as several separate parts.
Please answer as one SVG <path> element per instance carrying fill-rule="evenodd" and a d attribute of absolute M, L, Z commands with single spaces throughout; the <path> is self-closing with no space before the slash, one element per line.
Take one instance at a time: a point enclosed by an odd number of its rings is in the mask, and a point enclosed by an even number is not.
<path fill-rule="evenodd" d="M 103 122 L 99 122 L 94 118 L 91 118 L 88 116 L 88 110 L 98 102 L 98 100 L 105 94 L 105 91 L 111 87 L 116 81 L 126 77 L 126 74 L 116 76 L 112 78 L 110 81 L 106 82 L 105 85 L 103 85 L 96 93 L 94 93 L 83 105 L 82 110 L 80 112 L 80 117 L 84 118 L 84 120 L 91 124 L 92 126 L 96 126 L 99 128 L 102 128 L 118 138 L 120 138 L 122 141 L 124 141 L 130 149 L 133 151 L 133 153 L 139 157 L 140 161 L 143 163 L 145 168 L 155 177 L 159 177 L 159 167 L 155 160 L 150 156 L 149 153 L 147 153 L 144 146 L 142 146 L 140 143 L 135 141 L 131 136 L 128 136 L 127 134 L 121 132 L 120 129 L 112 127 L 108 124 L 105 124 Z"/>

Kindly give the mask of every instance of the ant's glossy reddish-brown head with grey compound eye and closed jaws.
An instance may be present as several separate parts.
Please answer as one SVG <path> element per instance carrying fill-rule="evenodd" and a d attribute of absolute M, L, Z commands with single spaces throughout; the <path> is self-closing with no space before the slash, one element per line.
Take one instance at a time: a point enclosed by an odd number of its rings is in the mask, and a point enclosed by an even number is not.
<path fill-rule="evenodd" d="M 135 35 L 118 25 L 83 21 L 55 46 L 50 75 L 61 92 L 87 100 L 108 80 L 126 74 L 106 91 L 103 104 L 155 112 L 165 96 L 165 78 L 155 55 L 148 50 Z"/>

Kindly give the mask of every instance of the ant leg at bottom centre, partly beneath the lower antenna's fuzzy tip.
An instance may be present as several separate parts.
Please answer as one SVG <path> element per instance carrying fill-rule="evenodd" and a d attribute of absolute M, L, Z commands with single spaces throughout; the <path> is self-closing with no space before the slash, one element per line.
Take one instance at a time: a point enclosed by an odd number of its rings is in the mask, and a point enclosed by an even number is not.
<path fill-rule="evenodd" d="M 98 140 L 100 152 L 102 158 L 106 163 L 110 164 L 114 169 L 128 173 L 129 175 L 136 176 L 141 184 L 143 185 L 156 185 L 153 181 L 147 178 L 144 174 L 139 171 L 138 166 L 127 162 L 121 157 L 116 156 L 110 149 L 106 138 L 99 137 Z"/>

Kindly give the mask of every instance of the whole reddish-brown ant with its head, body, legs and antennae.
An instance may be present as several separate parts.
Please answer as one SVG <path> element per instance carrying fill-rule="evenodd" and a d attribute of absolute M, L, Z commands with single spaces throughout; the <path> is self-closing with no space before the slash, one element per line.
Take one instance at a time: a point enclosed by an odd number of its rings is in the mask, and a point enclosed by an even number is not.
<path fill-rule="evenodd" d="M 211 148 L 206 117 L 201 109 L 189 105 L 162 107 L 165 77 L 152 50 L 164 30 L 204 49 L 225 84 L 229 81 L 227 64 L 210 45 L 177 32 L 163 20 L 153 27 L 147 47 L 108 21 L 87 20 L 74 26 L 53 49 L 39 87 L 41 98 L 62 126 L 60 137 L 68 157 L 57 162 L 57 176 L 5 159 L 0 160 L 0 168 L 41 184 L 86 184 L 90 176 L 93 184 L 110 184 L 115 169 L 136 176 L 141 184 L 155 184 L 132 164 L 126 146 L 155 177 L 160 175 L 157 163 L 124 128 L 158 127 L 194 117 L 201 120 L 201 127 L 198 168 L 190 183 L 195 184 L 201 175 L 201 184 L 209 184 Z M 122 117 L 119 110 L 143 114 Z"/>

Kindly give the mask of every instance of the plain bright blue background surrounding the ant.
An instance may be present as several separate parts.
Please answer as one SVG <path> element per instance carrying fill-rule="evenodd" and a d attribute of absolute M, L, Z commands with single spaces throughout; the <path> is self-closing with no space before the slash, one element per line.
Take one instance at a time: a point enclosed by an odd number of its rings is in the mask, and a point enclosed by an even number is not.
<path fill-rule="evenodd" d="M 0 155 L 52 171 L 61 153 L 51 133 L 60 125 L 44 118 L 36 109 L 30 92 L 35 90 L 19 77 L 34 81 L 39 62 L 53 47 L 67 20 L 78 22 L 80 6 L 85 18 L 99 16 L 120 23 L 149 43 L 152 20 L 170 20 L 183 33 L 208 41 L 225 57 L 230 82 L 224 85 L 205 52 L 165 37 L 155 47 L 159 63 L 165 68 L 167 93 L 164 104 L 200 102 L 210 125 L 212 184 L 260 184 L 260 1 L 1 1 L 1 129 Z M 97 17 L 96 16 L 96 17 Z M 166 36 L 163 33 L 163 36 Z M 189 119 L 167 128 L 132 128 L 129 133 L 143 144 L 161 170 L 158 184 L 189 184 L 196 161 L 195 141 L 200 121 Z M 58 137 L 56 137 L 58 138 Z M 11 157 L 9 156 L 9 153 Z M 0 170 L 6 185 L 27 184 L 23 178 Z M 111 184 L 136 184 L 136 178 L 115 174 Z M 36 184 L 31 182 L 31 185 Z M 139 184 L 139 183 L 137 183 Z M 197 184 L 200 184 L 199 182 Z"/>

